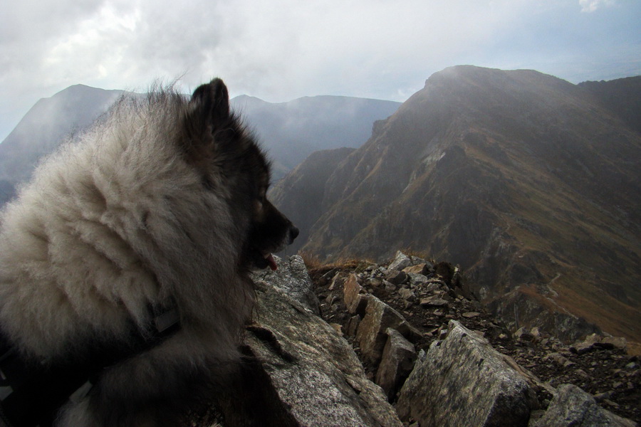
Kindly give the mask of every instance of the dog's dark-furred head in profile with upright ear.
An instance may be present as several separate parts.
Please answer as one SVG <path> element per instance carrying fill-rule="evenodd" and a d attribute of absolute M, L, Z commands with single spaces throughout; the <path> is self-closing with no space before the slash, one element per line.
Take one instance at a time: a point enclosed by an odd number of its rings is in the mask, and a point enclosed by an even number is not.
<path fill-rule="evenodd" d="M 229 203 L 237 221 L 240 267 L 270 267 L 271 254 L 298 236 L 298 228 L 266 198 L 270 167 L 254 137 L 229 110 L 229 94 L 220 79 L 199 86 L 185 117 L 182 142 L 189 163 L 202 174 L 202 184 Z"/>

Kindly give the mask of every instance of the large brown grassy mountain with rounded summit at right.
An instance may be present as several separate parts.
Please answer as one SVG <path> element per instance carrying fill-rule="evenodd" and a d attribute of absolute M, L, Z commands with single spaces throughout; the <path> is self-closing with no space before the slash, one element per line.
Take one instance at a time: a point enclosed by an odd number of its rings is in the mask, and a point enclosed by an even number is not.
<path fill-rule="evenodd" d="M 447 68 L 326 181 L 302 182 L 317 175 L 301 164 L 271 194 L 313 224 L 302 250 L 321 260 L 409 248 L 458 263 L 511 327 L 641 342 L 641 135 L 605 98 L 532 70 Z M 297 218 L 287 189 L 306 185 L 320 209 Z"/>

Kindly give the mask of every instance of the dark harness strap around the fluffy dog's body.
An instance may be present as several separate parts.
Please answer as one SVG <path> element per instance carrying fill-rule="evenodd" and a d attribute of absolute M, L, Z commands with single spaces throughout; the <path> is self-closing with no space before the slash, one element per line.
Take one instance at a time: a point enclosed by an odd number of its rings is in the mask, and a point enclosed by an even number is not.
<path fill-rule="evenodd" d="M 0 420 L 9 427 L 50 426 L 58 409 L 70 399 L 82 399 L 103 369 L 156 347 L 179 330 L 175 307 L 150 310 L 150 325 L 144 330 L 132 325 L 127 344 L 94 344 L 81 359 L 53 364 L 25 358 L 0 330 Z"/>

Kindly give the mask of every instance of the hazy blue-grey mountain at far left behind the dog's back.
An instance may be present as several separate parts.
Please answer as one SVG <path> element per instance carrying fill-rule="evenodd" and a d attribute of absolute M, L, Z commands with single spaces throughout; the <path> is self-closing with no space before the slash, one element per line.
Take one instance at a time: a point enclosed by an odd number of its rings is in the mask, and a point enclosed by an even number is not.
<path fill-rule="evenodd" d="M 38 159 L 90 125 L 122 93 L 74 85 L 36 102 L 0 144 L 0 204 L 31 176 Z"/>

